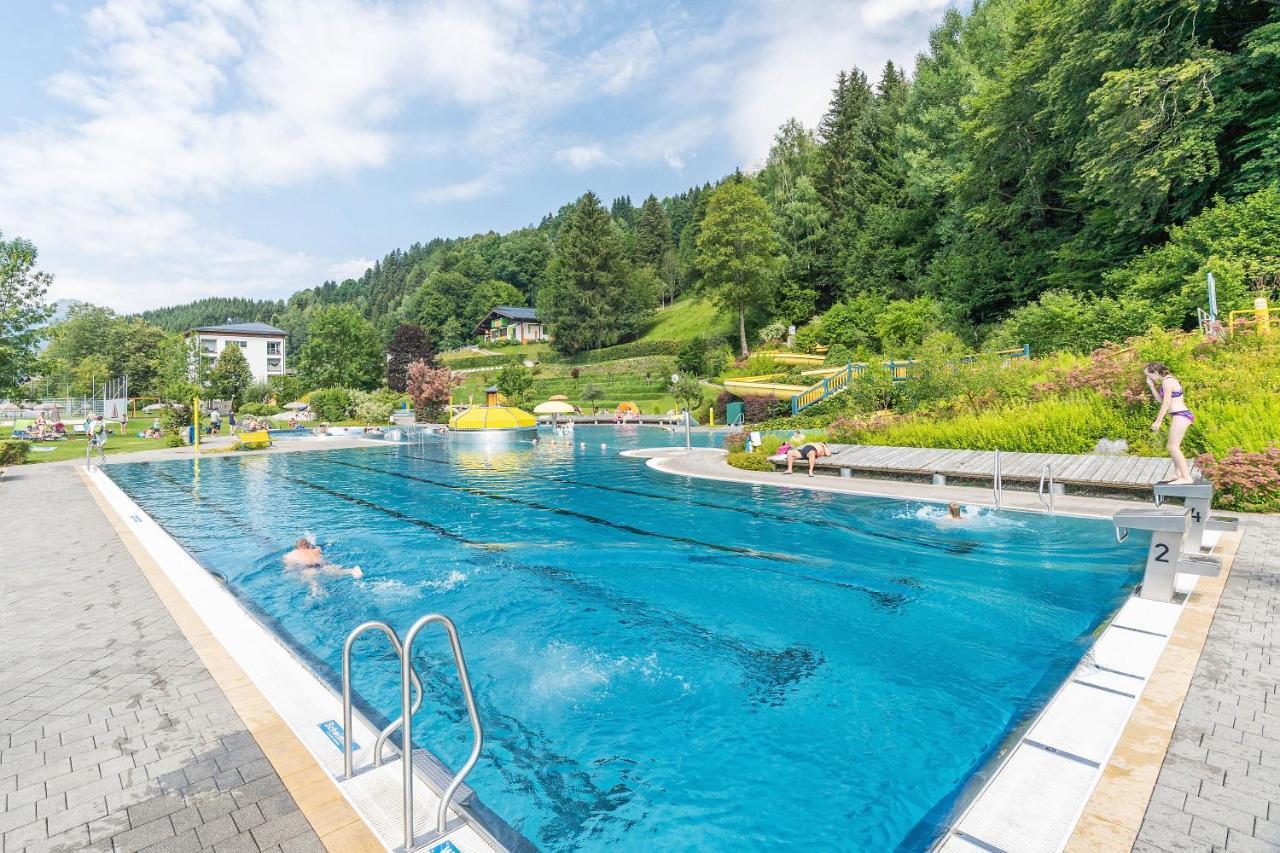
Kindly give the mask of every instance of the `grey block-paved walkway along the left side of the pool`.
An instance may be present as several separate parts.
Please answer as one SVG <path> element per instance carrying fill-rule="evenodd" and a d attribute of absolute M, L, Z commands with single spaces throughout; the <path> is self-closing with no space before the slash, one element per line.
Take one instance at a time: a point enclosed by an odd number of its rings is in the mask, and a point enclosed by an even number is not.
<path fill-rule="evenodd" d="M 0 850 L 323 850 L 69 465 L 0 479 Z"/>

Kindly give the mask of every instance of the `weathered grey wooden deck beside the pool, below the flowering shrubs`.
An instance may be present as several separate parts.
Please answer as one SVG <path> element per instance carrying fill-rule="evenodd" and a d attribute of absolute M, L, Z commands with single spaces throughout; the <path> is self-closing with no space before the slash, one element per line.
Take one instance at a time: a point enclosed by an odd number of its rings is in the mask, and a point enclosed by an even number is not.
<path fill-rule="evenodd" d="M 819 459 L 814 470 L 991 480 L 995 451 L 940 450 L 929 447 L 881 447 L 831 444 L 832 455 Z M 1073 453 L 1000 455 L 1005 483 L 1038 483 L 1041 469 L 1052 466 L 1053 482 L 1062 485 L 1107 489 L 1149 489 L 1174 476 L 1174 464 L 1155 456 L 1096 456 Z M 796 462 L 796 466 L 808 465 Z M 1193 471 L 1194 473 L 1194 471 Z"/>

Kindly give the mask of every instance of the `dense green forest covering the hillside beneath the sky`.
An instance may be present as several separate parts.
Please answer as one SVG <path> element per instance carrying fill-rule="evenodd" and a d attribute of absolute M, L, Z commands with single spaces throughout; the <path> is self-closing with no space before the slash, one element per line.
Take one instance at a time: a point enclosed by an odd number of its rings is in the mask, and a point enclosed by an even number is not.
<path fill-rule="evenodd" d="M 1280 4 L 979 1 L 945 15 L 913 77 L 841 73 L 817 128 L 786 123 L 759 173 L 727 179 L 763 199 L 776 238 L 756 327 L 910 301 L 977 339 L 1046 291 L 1181 323 L 1208 269 L 1240 297 L 1280 280 L 1265 245 L 1280 222 Z M 608 210 L 626 263 L 650 270 L 660 298 L 699 283 L 709 190 Z M 311 306 L 340 301 L 384 336 L 407 320 L 449 346 L 492 305 L 538 300 L 568 209 L 397 250 L 358 280 L 283 304 L 205 300 L 145 316 L 305 334 Z M 1185 245 L 1161 248 L 1171 233 Z"/>

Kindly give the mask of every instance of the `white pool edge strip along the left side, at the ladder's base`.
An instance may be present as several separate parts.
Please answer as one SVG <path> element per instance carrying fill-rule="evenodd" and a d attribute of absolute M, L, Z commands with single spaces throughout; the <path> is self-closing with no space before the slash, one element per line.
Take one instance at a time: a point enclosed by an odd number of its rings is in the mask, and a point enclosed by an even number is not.
<path fill-rule="evenodd" d="M 380 767 L 371 766 L 378 729 L 358 710 L 352 715 L 355 774 L 343 777 L 339 742 L 332 740 L 321 725 L 342 725 L 342 699 L 316 676 L 274 631 L 244 608 L 215 575 L 201 566 L 169 533 L 138 506 L 104 471 L 90 473 L 92 485 L 119 515 L 138 543 L 151 556 L 174 588 L 232 660 L 244 671 L 275 712 L 311 753 L 334 783 L 342 797 L 365 821 L 387 850 L 402 852 L 403 795 L 399 751 L 393 736 Z M 465 640 L 465 638 L 463 638 Z M 357 672 L 358 676 L 358 672 Z M 415 751 L 413 816 L 415 838 L 421 849 L 452 841 L 460 853 L 503 853 L 507 848 L 484 826 L 480 817 L 457 802 L 449 806 L 444 835 L 435 835 L 439 806 L 438 780 L 430 777 L 424 760 Z"/>

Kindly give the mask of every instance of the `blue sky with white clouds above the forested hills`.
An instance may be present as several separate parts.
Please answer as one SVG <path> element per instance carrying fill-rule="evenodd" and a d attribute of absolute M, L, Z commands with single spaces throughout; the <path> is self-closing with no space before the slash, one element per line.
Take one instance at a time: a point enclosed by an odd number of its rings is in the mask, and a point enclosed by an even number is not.
<path fill-rule="evenodd" d="M 0 231 L 51 297 L 280 297 L 758 167 L 952 0 L 10 0 Z"/>

